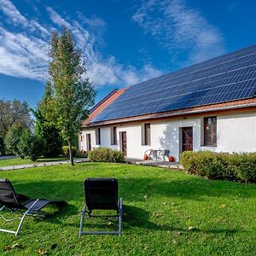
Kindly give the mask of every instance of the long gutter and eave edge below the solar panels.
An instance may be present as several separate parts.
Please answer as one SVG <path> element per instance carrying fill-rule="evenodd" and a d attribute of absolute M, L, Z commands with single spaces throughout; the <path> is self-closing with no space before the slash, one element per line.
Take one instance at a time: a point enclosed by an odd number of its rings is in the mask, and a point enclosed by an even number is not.
<path fill-rule="evenodd" d="M 226 106 L 226 107 L 218 107 L 218 108 L 206 108 L 206 109 L 199 109 L 199 110 L 190 110 L 186 112 L 179 112 L 179 113 L 153 113 L 151 116 L 145 117 L 145 116 L 134 116 L 134 117 L 127 117 L 126 119 L 112 119 L 107 121 L 100 121 L 97 123 L 90 123 L 88 127 L 95 127 L 99 125 L 112 125 L 112 124 L 119 124 L 119 123 L 127 123 L 127 122 L 133 122 L 133 121 L 140 121 L 140 120 L 148 120 L 148 119 L 159 119 L 159 118 L 167 118 L 167 117 L 174 117 L 174 116 L 181 116 L 191 113 L 208 113 L 212 111 L 224 111 L 224 110 L 231 110 L 236 108 L 251 108 L 256 107 L 256 102 L 253 103 L 246 103 L 246 104 L 239 104 L 239 105 L 233 105 L 233 106 Z"/>

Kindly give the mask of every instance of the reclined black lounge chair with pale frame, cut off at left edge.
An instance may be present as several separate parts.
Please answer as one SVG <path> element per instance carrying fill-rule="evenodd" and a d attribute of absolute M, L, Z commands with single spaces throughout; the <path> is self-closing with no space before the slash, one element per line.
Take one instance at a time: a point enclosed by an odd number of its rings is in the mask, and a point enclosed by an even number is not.
<path fill-rule="evenodd" d="M 26 202 L 22 203 L 22 201 Z M 66 201 L 49 201 L 47 199 L 28 200 L 28 197 L 26 195 L 19 195 L 15 193 L 15 189 L 13 188 L 12 183 L 8 179 L 0 179 L 0 203 L 3 205 L 3 207 L 0 208 L 0 212 L 3 211 L 3 209 L 9 209 L 12 212 L 15 212 L 17 210 L 25 211 L 22 217 L 13 219 L 6 219 L 3 217 L 3 215 L 0 215 L 0 217 L 7 222 L 12 222 L 20 219 L 20 224 L 17 230 L 0 229 L 0 231 L 2 232 L 12 233 L 15 234 L 15 236 L 18 235 L 22 222 L 26 216 L 44 217 L 44 212 L 40 211 L 47 205 L 53 204 L 56 207 L 64 207 L 65 205 L 67 205 Z"/>

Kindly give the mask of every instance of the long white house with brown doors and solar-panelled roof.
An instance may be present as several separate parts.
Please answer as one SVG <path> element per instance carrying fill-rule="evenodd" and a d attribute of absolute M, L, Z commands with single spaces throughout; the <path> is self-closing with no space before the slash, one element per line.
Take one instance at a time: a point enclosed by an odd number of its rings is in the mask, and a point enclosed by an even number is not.
<path fill-rule="evenodd" d="M 143 159 L 148 149 L 256 152 L 256 45 L 113 90 L 90 111 L 79 148 Z"/>

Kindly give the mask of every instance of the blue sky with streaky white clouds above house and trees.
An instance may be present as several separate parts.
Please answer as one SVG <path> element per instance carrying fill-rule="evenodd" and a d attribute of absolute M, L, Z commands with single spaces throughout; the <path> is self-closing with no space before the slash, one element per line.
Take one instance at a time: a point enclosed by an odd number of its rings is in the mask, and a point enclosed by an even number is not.
<path fill-rule="evenodd" d="M 32 107 L 48 77 L 50 34 L 71 29 L 95 84 L 114 88 L 256 43 L 253 0 L 0 0 L 0 98 Z"/>

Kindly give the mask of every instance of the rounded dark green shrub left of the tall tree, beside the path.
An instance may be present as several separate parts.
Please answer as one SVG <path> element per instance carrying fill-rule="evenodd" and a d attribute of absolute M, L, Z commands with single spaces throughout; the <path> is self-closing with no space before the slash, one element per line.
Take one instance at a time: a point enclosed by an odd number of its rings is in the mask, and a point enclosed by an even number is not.
<path fill-rule="evenodd" d="M 20 137 L 18 148 L 21 156 L 27 156 L 30 160 L 35 161 L 44 152 L 44 142 L 40 137 L 26 130 Z"/>

